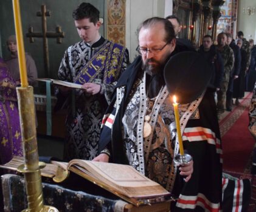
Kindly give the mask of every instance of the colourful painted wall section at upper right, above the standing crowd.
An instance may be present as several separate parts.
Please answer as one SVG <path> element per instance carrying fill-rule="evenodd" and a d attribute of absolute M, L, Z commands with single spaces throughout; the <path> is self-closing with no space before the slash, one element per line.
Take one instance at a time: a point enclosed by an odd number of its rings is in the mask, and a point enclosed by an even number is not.
<path fill-rule="evenodd" d="M 237 0 L 227 0 L 221 6 L 221 17 L 217 24 L 217 34 L 234 33 L 234 21 L 237 19 Z"/>

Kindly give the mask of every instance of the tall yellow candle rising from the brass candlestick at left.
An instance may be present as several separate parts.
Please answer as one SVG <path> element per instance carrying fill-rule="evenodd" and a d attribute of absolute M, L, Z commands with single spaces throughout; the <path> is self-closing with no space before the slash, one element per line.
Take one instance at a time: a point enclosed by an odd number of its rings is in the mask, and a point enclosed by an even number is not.
<path fill-rule="evenodd" d="M 15 21 L 15 31 L 18 49 L 18 59 L 19 59 L 19 73 L 21 76 L 21 87 L 28 87 L 27 81 L 27 67 L 26 58 L 23 44 L 22 28 L 21 28 L 21 12 L 19 8 L 19 0 L 13 0 L 13 14 Z"/>

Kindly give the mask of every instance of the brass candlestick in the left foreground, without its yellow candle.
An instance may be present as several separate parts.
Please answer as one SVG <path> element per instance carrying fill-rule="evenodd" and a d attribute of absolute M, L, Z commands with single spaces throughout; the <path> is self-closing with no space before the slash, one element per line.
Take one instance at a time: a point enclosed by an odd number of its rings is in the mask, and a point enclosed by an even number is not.
<path fill-rule="evenodd" d="M 45 164 L 38 161 L 33 87 L 18 87 L 16 90 L 19 104 L 22 148 L 25 159 L 25 164 L 19 166 L 18 171 L 24 173 L 28 201 L 28 208 L 22 210 L 22 212 L 58 211 L 56 208 L 45 206 L 43 203 L 40 169 Z"/>

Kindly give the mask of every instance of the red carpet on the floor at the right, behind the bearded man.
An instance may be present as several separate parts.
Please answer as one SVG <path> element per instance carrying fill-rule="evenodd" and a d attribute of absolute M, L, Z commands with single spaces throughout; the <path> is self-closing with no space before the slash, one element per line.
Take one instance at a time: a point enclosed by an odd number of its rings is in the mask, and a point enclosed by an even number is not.
<path fill-rule="evenodd" d="M 249 123 L 248 108 L 251 93 L 243 99 L 232 113 L 220 122 L 223 145 L 223 170 L 248 173 L 247 164 L 255 141 L 247 128 Z"/>

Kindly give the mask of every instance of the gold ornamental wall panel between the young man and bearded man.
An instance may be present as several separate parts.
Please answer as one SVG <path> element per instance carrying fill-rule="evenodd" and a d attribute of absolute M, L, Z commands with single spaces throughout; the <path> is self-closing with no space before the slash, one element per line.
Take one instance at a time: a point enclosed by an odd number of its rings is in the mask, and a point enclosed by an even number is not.
<path fill-rule="evenodd" d="M 107 1 L 107 38 L 125 46 L 125 0 Z"/>

